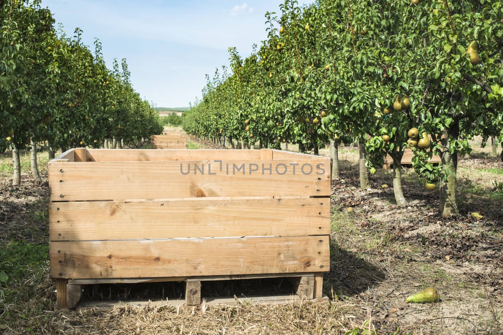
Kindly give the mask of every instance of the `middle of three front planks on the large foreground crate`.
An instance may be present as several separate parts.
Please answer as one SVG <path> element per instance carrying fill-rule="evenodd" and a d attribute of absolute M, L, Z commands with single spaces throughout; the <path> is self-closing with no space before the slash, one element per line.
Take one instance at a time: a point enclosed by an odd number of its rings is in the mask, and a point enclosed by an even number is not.
<path fill-rule="evenodd" d="M 328 199 L 191 198 L 49 204 L 51 241 L 328 234 Z"/>

